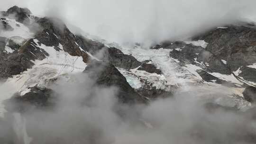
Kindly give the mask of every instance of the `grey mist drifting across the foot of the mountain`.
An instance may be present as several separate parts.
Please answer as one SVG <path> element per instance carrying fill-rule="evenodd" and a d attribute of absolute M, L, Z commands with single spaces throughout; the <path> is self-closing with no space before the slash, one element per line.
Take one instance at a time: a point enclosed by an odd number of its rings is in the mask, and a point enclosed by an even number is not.
<path fill-rule="evenodd" d="M 0 129 L 0 134 L 9 132 L 8 138 L 17 139 L 15 144 L 255 142 L 256 121 L 252 111 L 206 108 L 206 101 L 196 99 L 196 91 L 190 95 L 175 93 L 174 97 L 146 105 L 127 105 L 118 102 L 117 87 L 97 86 L 87 74 L 71 75 L 70 81 L 58 79 L 49 88 L 54 91 L 49 99 L 53 107 L 28 104 L 20 114 L 9 111 L 5 117 L 9 120 L 5 121 L 12 122 L 15 135 L 9 134 L 10 129 Z"/>

